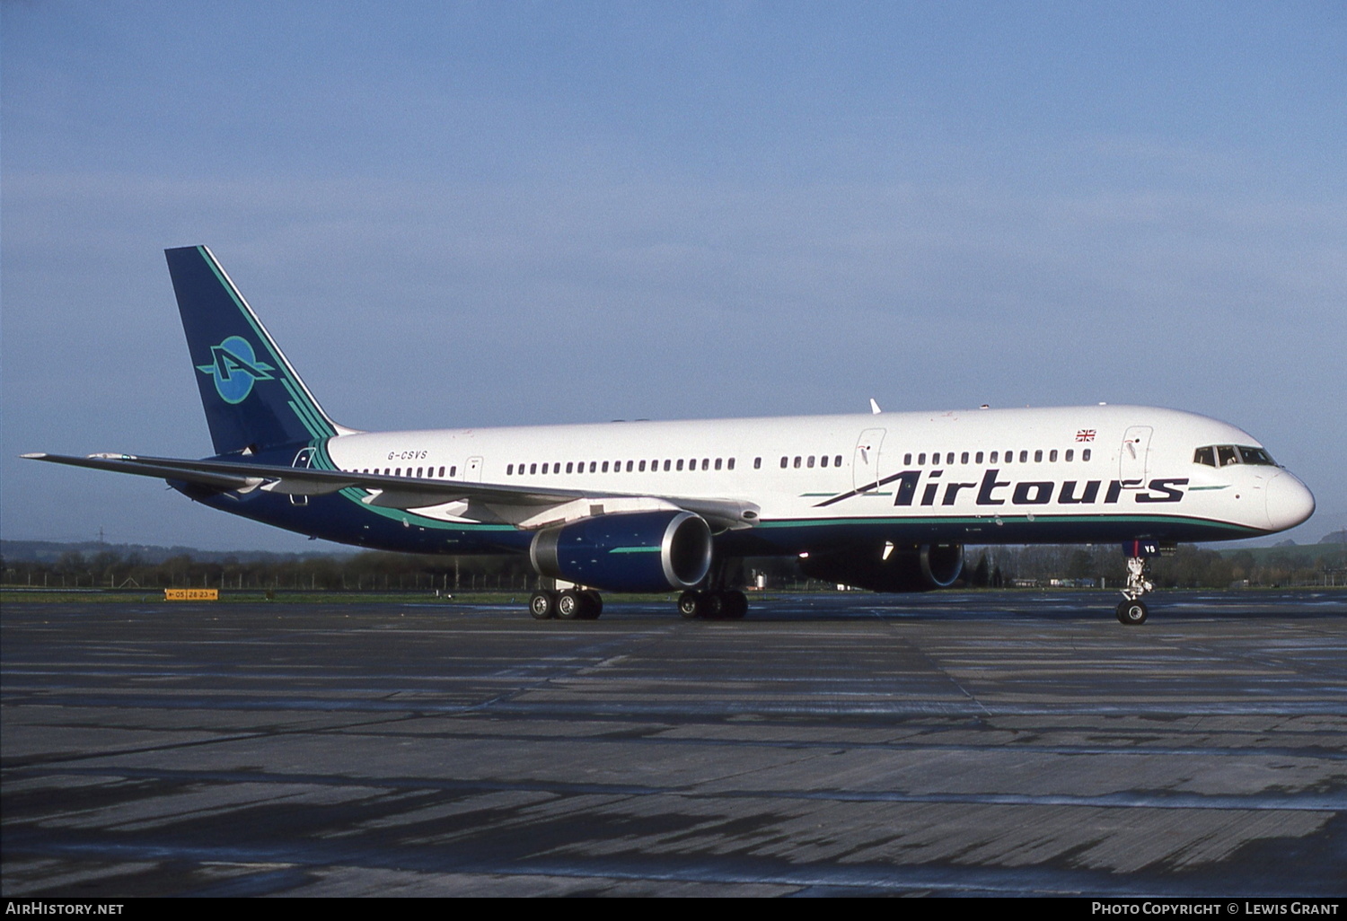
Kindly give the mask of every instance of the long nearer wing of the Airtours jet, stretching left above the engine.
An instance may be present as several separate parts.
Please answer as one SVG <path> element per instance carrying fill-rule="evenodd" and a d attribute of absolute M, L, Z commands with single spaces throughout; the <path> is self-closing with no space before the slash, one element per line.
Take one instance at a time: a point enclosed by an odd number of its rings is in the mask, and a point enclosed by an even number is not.
<path fill-rule="evenodd" d="M 707 518 L 719 528 L 750 528 L 757 524 L 758 506 L 723 498 L 649 496 L 637 493 L 590 491 L 473 483 L 459 479 L 428 479 L 364 474 L 349 470 L 282 467 L 241 460 L 191 460 L 147 458 L 133 454 L 24 454 L 30 460 L 65 463 L 73 467 L 110 470 L 136 477 L 198 483 L 221 491 L 249 493 L 260 489 L 288 496 L 326 496 L 343 489 L 364 489 L 366 505 L 393 509 L 423 509 L 447 502 L 465 502 L 467 517 L 508 521 L 521 528 L 541 528 L 590 514 L 636 512 L 651 508 L 680 508 Z M 595 505 L 597 504 L 597 505 Z M 475 514 L 473 513 L 475 510 Z"/>

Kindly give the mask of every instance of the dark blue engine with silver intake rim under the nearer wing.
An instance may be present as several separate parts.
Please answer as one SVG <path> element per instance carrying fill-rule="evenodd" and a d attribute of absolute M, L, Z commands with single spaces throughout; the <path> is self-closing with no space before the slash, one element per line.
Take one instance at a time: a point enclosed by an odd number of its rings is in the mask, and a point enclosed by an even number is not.
<path fill-rule="evenodd" d="M 528 556 L 544 576 L 593 588 L 691 588 L 711 568 L 711 529 L 691 512 L 599 514 L 537 532 Z"/>

